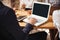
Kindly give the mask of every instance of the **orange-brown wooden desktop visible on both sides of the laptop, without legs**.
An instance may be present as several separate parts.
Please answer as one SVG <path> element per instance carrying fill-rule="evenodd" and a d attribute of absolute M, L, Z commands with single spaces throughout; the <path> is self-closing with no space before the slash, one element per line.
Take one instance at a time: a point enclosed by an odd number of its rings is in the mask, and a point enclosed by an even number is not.
<path fill-rule="evenodd" d="M 21 14 L 24 13 L 25 15 L 28 14 L 27 11 L 18 12 L 18 13 L 21 13 Z M 20 14 L 20 15 L 21 15 L 21 14 Z M 19 22 L 19 25 L 20 25 L 20 26 L 25 26 L 26 23 L 24 23 L 24 22 Z M 48 19 L 48 21 L 47 21 L 46 23 L 44 23 L 44 24 L 42 24 L 42 25 L 40 25 L 40 26 L 38 26 L 38 27 L 36 27 L 36 28 L 55 29 L 55 27 L 54 27 L 54 25 L 53 25 L 53 21 L 52 21 L 52 16 L 50 15 L 50 16 L 49 16 L 49 19 Z"/>

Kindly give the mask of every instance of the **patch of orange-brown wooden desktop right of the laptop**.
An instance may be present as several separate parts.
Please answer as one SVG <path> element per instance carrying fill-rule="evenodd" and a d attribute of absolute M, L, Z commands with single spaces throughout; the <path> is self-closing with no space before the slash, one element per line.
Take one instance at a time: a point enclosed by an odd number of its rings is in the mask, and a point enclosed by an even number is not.
<path fill-rule="evenodd" d="M 38 28 L 48 28 L 48 29 L 55 29 L 54 25 L 53 25 L 53 21 L 52 21 L 52 16 L 49 16 L 49 19 L 46 23 L 38 26 Z"/>

